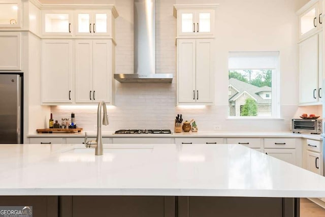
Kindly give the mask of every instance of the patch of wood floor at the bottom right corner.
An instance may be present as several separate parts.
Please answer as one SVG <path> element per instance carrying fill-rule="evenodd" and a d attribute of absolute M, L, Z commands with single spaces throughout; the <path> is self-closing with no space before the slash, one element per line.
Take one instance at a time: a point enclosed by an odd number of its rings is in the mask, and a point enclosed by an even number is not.
<path fill-rule="evenodd" d="M 300 217 L 325 217 L 325 209 L 307 198 L 300 199 Z"/>

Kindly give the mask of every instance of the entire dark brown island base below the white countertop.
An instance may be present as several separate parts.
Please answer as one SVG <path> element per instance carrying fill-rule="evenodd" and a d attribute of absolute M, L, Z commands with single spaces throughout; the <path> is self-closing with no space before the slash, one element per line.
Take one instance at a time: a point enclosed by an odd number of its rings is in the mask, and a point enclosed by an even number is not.
<path fill-rule="evenodd" d="M 299 198 L 174 196 L 0 196 L 33 217 L 299 217 Z"/>

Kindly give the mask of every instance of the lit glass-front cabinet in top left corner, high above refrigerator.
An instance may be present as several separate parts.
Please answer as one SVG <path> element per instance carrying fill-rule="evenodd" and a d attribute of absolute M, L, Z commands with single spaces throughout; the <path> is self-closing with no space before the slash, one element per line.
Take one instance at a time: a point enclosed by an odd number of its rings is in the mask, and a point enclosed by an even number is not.
<path fill-rule="evenodd" d="M 21 27 L 21 1 L 0 1 L 0 27 Z"/>

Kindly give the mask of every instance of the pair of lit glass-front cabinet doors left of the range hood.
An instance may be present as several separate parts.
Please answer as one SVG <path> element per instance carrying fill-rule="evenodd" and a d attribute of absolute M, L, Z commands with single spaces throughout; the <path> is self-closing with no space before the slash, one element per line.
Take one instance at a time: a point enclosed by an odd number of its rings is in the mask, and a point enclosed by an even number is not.
<path fill-rule="evenodd" d="M 77 12 L 76 35 L 111 36 L 111 14 L 107 11 Z"/>

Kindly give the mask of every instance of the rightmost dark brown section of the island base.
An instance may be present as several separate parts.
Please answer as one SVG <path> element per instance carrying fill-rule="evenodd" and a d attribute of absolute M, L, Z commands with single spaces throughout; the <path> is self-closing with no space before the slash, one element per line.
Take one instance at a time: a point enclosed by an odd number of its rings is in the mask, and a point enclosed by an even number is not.
<path fill-rule="evenodd" d="M 298 198 L 178 197 L 177 217 L 299 217 Z"/>

